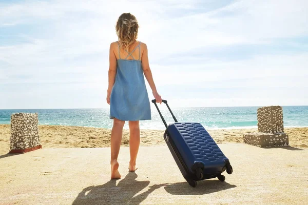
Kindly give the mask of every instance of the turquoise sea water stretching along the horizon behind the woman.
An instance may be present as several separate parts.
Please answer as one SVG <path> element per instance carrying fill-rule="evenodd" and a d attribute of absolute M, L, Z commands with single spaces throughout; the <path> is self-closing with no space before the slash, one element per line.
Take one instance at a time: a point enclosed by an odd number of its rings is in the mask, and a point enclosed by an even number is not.
<path fill-rule="evenodd" d="M 167 123 L 173 119 L 165 106 L 159 105 Z M 206 129 L 257 128 L 258 107 L 175 108 L 178 121 L 200 122 Z M 109 109 L 40 109 L 0 110 L 0 124 L 10 124 L 12 113 L 38 113 L 40 125 L 85 126 L 111 128 Z M 155 107 L 151 107 L 152 120 L 140 122 L 141 129 L 164 129 Z M 308 106 L 283 107 L 285 127 L 308 127 Z M 125 128 L 128 128 L 126 122 Z"/>

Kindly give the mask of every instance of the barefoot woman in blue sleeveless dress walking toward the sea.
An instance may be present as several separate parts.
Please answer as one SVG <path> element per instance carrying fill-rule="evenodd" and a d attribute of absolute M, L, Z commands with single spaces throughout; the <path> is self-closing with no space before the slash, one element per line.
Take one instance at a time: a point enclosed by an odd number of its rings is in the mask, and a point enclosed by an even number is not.
<path fill-rule="evenodd" d="M 118 171 L 118 155 L 125 121 L 129 121 L 128 170 L 134 172 L 140 145 L 139 120 L 151 119 L 150 102 L 145 86 L 145 75 L 157 103 L 162 98 L 156 90 L 149 67 L 147 46 L 137 41 L 138 22 L 130 13 L 123 13 L 117 22 L 118 41 L 109 50 L 109 86 L 107 103 L 110 105 L 111 131 L 111 179 L 121 178 Z"/>

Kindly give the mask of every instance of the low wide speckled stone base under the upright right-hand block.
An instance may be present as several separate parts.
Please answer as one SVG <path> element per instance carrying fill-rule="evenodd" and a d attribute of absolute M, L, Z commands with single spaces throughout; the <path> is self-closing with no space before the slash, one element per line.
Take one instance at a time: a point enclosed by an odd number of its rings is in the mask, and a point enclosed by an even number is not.
<path fill-rule="evenodd" d="M 288 146 L 288 134 L 249 133 L 243 135 L 244 143 L 257 147 Z"/>

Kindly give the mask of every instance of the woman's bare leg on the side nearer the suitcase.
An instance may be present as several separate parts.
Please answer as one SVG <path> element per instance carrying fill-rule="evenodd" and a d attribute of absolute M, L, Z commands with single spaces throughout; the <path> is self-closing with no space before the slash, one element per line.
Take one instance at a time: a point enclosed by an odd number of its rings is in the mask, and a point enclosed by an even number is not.
<path fill-rule="evenodd" d="M 136 159 L 140 145 L 140 129 L 139 121 L 129 121 L 129 152 L 130 152 L 130 161 L 129 161 L 129 171 L 133 172 L 137 170 Z"/>

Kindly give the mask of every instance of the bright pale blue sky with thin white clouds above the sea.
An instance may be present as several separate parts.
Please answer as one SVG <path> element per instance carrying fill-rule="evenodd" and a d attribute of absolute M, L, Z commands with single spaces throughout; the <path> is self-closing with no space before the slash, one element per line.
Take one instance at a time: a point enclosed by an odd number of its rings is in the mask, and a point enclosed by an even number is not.
<path fill-rule="evenodd" d="M 0 109 L 109 108 L 124 12 L 174 107 L 308 105 L 308 1 L 0 0 Z"/>

